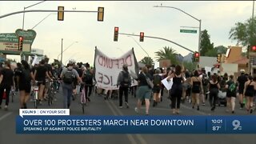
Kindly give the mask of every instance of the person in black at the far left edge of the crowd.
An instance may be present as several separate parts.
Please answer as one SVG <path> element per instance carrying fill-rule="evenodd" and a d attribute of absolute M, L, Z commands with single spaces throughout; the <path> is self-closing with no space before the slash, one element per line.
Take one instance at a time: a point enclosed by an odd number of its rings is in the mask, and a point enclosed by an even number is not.
<path fill-rule="evenodd" d="M 6 106 L 8 110 L 10 88 L 14 86 L 14 71 L 10 69 L 10 62 L 5 62 L 0 75 L 0 109 L 2 108 L 2 97 L 4 90 L 6 90 Z"/>

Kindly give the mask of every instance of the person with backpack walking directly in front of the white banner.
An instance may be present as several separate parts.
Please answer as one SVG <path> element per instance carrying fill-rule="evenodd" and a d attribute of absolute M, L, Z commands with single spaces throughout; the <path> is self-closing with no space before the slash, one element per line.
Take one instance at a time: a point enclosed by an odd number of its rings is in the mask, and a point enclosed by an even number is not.
<path fill-rule="evenodd" d="M 122 94 L 125 95 L 126 107 L 129 108 L 128 104 L 128 89 L 131 85 L 131 78 L 128 72 L 128 65 L 122 66 L 122 71 L 118 74 L 117 86 L 119 86 L 119 108 L 122 108 Z"/>

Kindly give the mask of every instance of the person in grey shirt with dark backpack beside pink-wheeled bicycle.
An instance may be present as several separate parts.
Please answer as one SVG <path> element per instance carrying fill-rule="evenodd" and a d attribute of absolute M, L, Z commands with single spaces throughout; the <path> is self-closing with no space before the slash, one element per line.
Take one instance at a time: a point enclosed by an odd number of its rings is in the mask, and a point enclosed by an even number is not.
<path fill-rule="evenodd" d="M 79 74 L 77 70 L 74 70 L 74 59 L 70 59 L 67 67 L 62 68 L 62 74 L 60 78 L 62 78 L 62 90 L 63 90 L 63 107 L 64 109 L 70 108 L 71 96 L 73 92 L 74 78 L 78 80 L 78 82 L 82 83 L 82 79 L 79 78 Z"/>

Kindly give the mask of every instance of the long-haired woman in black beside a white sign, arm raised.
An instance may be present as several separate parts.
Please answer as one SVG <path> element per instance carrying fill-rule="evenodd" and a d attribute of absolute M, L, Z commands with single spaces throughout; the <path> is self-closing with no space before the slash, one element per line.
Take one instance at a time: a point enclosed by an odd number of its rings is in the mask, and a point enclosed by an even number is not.
<path fill-rule="evenodd" d="M 173 85 L 170 90 L 171 96 L 171 109 L 173 114 L 179 114 L 179 108 L 182 98 L 182 83 L 185 82 L 184 77 L 182 77 L 182 66 L 175 66 L 174 73 L 171 73 L 167 78 L 167 81 L 173 78 Z"/>

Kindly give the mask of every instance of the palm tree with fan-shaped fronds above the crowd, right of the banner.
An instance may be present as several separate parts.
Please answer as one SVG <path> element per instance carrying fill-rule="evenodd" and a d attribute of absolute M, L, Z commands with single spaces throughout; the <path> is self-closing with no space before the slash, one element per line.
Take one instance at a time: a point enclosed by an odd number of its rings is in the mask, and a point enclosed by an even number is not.
<path fill-rule="evenodd" d="M 175 50 L 173 50 L 171 47 L 163 47 L 163 50 L 158 50 L 157 52 L 154 52 L 156 54 L 157 60 L 162 60 L 162 59 L 170 59 L 171 64 L 178 64 L 177 60 L 177 53 Z"/>

